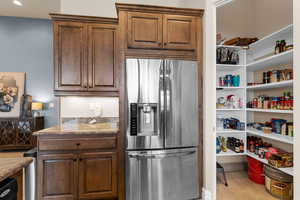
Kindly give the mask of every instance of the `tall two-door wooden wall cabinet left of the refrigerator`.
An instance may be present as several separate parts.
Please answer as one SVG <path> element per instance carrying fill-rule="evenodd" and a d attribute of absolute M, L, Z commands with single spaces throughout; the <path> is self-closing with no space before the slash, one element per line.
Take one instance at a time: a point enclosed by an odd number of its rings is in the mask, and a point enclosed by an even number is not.
<path fill-rule="evenodd" d="M 118 20 L 61 14 L 51 17 L 55 94 L 118 96 Z"/>

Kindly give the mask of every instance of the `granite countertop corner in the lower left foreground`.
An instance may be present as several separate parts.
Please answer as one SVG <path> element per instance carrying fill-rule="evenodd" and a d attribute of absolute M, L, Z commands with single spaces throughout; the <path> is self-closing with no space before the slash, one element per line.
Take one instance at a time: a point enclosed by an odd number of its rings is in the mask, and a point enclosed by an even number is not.
<path fill-rule="evenodd" d="M 0 158 L 0 182 L 18 173 L 33 161 L 32 158 Z"/>

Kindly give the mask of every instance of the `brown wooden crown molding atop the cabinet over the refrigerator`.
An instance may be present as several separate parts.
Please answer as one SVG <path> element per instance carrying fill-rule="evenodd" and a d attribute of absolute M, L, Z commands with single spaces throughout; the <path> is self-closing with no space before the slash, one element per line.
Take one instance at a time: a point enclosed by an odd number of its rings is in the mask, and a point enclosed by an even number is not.
<path fill-rule="evenodd" d="M 166 13 L 166 14 L 202 17 L 204 13 L 203 9 L 193 9 L 193 8 L 176 8 L 176 7 L 126 4 L 126 3 L 116 3 L 115 5 L 118 14 L 120 11 L 131 11 L 131 12 Z"/>

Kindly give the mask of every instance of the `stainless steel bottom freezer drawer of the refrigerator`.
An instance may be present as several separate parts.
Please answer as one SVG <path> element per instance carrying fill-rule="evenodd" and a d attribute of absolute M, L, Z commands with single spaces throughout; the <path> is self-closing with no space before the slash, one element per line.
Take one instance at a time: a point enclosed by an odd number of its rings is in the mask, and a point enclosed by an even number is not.
<path fill-rule="evenodd" d="M 199 197 L 197 148 L 126 152 L 126 199 Z"/>

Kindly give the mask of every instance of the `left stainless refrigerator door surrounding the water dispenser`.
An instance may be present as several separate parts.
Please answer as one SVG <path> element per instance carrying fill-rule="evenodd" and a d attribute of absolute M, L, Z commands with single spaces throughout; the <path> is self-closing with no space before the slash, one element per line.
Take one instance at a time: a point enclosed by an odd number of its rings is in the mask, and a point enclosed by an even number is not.
<path fill-rule="evenodd" d="M 164 146 L 164 65 L 162 60 L 127 59 L 127 149 L 155 149 Z M 139 131 L 137 136 L 130 134 L 130 104 L 157 104 L 155 131 Z M 140 124 L 139 124 L 140 125 Z M 146 127 L 140 125 L 140 127 Z M 140 130 L 140 129 L 139 129 Z"/>

